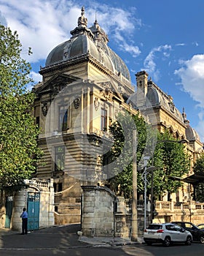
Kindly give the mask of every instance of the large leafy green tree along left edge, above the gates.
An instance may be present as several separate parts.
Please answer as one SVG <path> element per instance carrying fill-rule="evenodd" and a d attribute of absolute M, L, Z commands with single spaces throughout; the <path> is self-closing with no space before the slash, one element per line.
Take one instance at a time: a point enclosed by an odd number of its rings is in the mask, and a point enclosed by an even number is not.
<path fill-rule="evenodd" d="M 19 189 L 42 154 L 31 115 L 35 95 L 27 91 L 31 66 L 21 52 L 17 32 L 0 25 L 0 189 Z"/>

